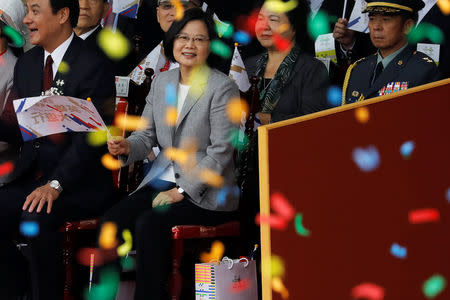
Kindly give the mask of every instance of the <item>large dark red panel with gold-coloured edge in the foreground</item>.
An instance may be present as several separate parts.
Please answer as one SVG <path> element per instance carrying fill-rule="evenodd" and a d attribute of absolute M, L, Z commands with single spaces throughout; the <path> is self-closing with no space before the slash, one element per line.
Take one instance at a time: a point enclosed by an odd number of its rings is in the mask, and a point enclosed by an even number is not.
<path fill-rule="evenodd" d="M 370 113 L 366 123 L 356 109 Z M 427 299 L 424 282 L 446 280 L 434 299 L 450 299 L 450 79 L 259 127 L 261 214 L 282 193 L 303 215 L 309 237 L 261 226 L 263 300 L 271 290 L 271 255 L 285 263 L 293 300 L 350 300 L 372 283 L 385 300 Z M 409 157 L 400 147 L 413 142 Z M 378 166 L 362 171 L 355 149 L 372 146 Z M 411 224 L 409 214 L 434 209 L 439 220 Z M 406 258 L 391 254 L 405 247 Z M 375 299 L 375 298 L 374 298 Z"/>

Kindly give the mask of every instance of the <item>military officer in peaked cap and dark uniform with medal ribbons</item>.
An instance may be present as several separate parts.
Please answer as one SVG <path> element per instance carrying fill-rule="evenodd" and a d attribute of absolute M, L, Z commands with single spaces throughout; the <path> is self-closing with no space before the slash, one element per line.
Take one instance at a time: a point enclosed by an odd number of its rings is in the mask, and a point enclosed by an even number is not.
<path fill-rule="evenodd" d="M 351 65 L 345 76 L 342 104 L 354 103 L 436 81 L 435 62 L 407 42 L 422 0 L 368 0 L 370 39 L 378 51 Z"/>

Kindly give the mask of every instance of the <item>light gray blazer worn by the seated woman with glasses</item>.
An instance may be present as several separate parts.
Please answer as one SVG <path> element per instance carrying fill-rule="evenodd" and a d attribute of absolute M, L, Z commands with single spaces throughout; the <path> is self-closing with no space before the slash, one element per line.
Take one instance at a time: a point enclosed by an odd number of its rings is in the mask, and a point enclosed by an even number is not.
<path fill-rule="evenodd" d="M 142 160 L 158 145 L 161 153 L 153 162 L 150 172 L 136 190 L 158 178 L 163 171 L 173 165 L 176 184 L 182 187 L 192 201 L 205 209 L 233 211 L 238 208 L 237 195 L 229 193 L 221 203 L 217 200 L 219 188 L 206 184 L 198 176 L 199 171 L 209 169 L 224 179 L 224 187 L 235 185 L 234 149 L 230 142 L 230 131 L 237 129 L 226 114 L 229 100 L 239 97 L 236 84 L 226 75 L 207 66 L 202 67 L 195 82 L 192 83 L 176 126 L 168 126 L 165 116 L 169 104 L 166 102 L 166 86 L 178 87 L 180 70 L 178 68 L 160 73 L 154 79 L 146 100 L 142 116 L 148 118 L 145 130 L 133 132 L 130 142 L 130 155 L 122 158 L 125 164 Z M 195 139 L 197 150 L 189 160 L 190 164 L 180 165 L 167 159 L 167 148 L 182 147 L 183 143 Z M 190 165 L 191 167 L 187 167 Z"/>

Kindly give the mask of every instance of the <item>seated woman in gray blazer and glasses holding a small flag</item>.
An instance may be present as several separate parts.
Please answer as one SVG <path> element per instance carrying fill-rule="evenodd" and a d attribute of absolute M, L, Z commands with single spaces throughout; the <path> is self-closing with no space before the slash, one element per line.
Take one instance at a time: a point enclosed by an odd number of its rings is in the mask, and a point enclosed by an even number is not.
<path fill-rule="evenodd" d="M 125 164 L 144 159 L 156 145 L 161 149 L 137 190 L 103 219 L 117 225 L 118 236 L 124 228 L 135 229 L 135 299 L 168 299 L 173 225 L 217 225 L 234 218 L 238 208 L 238 195 L 222 195 L 234 190 L 230 133 L 237 126 L 226 108 L 239 91 L 207 64 L 216 38 L 214 22 L 201 9 L 187 10 L 174 22 L 164 49 L 180 67 L 154 79 L 142 114 L 148 126 L 108 141 L 109 152 Z"/>

